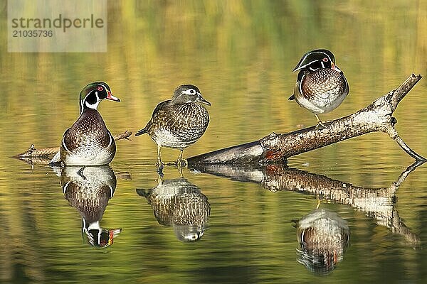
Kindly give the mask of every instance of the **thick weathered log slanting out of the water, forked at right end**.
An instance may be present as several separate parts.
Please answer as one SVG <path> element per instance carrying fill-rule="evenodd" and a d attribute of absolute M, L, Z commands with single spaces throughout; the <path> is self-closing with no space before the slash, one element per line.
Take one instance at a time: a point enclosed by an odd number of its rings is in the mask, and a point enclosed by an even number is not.
<path fill-rule="evenodd" d="M 389 134 L 406 153 L 416 160 L 426 160 L 413 152 L 400 138 L 394 128 L 397 121 L 391 116 L 401 99 L 419 80 L 421 75 L 411 75 L 398 89 L 384 94 L 354 114 L 332 121 L 327 128 L 316 129 L 312 126 L 285 134 L 271 133 L 258 141 L 188 158 L 188 163 L 202 165 L 283 161 L 292 155 L 376 131 Z"/>

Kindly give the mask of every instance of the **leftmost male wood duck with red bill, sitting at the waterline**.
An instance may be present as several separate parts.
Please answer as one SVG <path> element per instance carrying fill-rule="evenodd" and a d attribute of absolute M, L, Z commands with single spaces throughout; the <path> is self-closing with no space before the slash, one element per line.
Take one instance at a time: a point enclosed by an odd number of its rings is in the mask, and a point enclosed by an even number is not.
<path fill-rule="evenodd" d="M 65 165 L 107 165 L 111 162 L 116 151 L 115 141 L 97 111 L 103 99 L 120 102 L 111 94 L 105 82 L 93 82 L 82 89 L 80 116 L 65 131 L 60 151 L 51 163 L 62 161 Z"/>

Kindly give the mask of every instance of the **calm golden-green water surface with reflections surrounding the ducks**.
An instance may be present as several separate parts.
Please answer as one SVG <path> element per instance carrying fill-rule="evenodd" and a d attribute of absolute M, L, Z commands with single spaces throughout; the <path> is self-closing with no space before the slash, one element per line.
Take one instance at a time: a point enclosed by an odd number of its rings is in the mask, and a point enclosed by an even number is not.
<path fill-rule="evenodd" d="M 293 67 L 314 48 L 334 52 L 351 89 L 322 119 L 350 114 L 426 75 L 426 11 L 426 1 L 110 1 L 107 53 L 7 53 L 2 40 L 0 282 L 423 283 L 427 167 L 408 168 L 385 134 L 292 157 L 290 168 L 184 168 L 184 179 L 169 166 L 159 180 L 148 136 L 118 141 L 110 167 L 80 175 L 9 157 L 58 146 L 94 80 L 122 100 L 100 104 L 112 133 L 135 133 L 174 87 L 196 84 L 211 123 L 186 157 L 311 126 L 288 97 Z M 394 114 L 424 156 L 426 82 Z M 320 237 L 301 246 L 309 227 Z"/>

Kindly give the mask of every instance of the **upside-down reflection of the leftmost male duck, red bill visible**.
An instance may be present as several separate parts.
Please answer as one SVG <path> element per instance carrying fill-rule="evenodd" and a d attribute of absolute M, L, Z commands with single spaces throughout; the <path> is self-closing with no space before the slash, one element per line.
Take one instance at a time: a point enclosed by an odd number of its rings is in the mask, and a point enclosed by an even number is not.
<path fill-rule="evenodd" d="M 83 220 L 82 234 L 92 246 L 110 246 L 122 229 L 104 229 L 100 220 L 115 192 L 117 180 L 107 166 L 65 167 L 60 175 L 65 199 L 75 207 Z"/>

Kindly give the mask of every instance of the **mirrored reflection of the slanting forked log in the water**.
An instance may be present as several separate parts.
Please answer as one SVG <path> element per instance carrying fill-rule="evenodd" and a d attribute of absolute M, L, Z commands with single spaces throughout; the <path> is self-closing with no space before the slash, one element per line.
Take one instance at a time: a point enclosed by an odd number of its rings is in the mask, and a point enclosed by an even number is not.
<path fill-rule="evenodd" d="M 396 203 L 395 193 L 399 185 L 404 182 L 411 171 L 421 164 L 423 164 L 422 161 L 413 163 L 401 173 L 396 182 L 384 188 L 357 187 L 339 180 L 332 180 L 324 175 L 315 175 L 284 165 L 267 165 L 258 168 L 247 168 L 243 165 L 201 165 L 193 168 L 202 173 L 211 173 L 243 182 L 259 183 L 272 192 L 297 191 L 322 196 L 323 199 L 332 202 L 347 204 L 358 211 L 366 212 L 367 216 L 375 219 L 377 224 L 386 226 L 393 233 L 405 236 L 411 244 L 416 245 L 419 243 L 418 236 L 411 233 L 401 222 L 394 205 Z"/>

